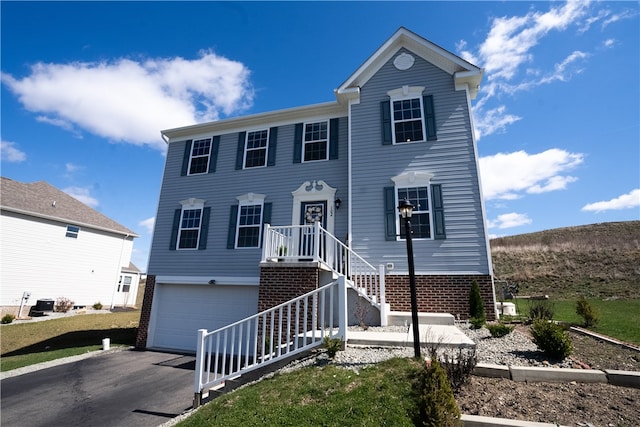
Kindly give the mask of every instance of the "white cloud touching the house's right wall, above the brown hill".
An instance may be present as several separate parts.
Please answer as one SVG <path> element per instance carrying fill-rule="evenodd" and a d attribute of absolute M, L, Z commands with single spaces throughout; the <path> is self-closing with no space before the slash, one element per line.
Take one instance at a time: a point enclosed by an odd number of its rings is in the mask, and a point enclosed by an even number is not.
<path fill-rule="evenodd" d="M 584 156 L 552 148 L 542 153 L 498 153 L 480 158 L 482 190 L 487 200 L 513 200 L 524 193 L 564 190 L 577 178 L 566 172 L 583 162 Z"/>

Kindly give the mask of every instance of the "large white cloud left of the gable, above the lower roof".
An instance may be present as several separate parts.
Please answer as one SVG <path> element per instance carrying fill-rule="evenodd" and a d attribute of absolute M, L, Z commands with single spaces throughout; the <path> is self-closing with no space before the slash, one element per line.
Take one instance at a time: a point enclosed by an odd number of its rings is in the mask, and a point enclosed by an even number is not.
<path fill-rule="evenodd" d="M 194 60 L 38 63 L 28 76 L 2 81 L 41 122 L 164 150 L 162 129 L 249 108 L 249 75 L 242 63 L 203 51 Z"/>

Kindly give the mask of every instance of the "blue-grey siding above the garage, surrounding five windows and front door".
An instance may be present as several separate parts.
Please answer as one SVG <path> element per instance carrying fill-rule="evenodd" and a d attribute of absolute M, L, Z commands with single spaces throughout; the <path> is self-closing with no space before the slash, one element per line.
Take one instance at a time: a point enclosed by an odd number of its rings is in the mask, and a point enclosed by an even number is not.
<path fill-rule="evenodd" d="M 312 117 L 309 120 L 313 120 Z M 271 126 L 265 123 L 265 128 Z M 276 164 L 266 168 L 236 170 L 238 132 L 220 135 L 215 173 L 181 176 L 184 142 L 171 142 L 167 151 L 164 177 L 156 216 L 149 260 L 149 274 L 172 276 L 255 276 L 259 275 L 261 248 L 227 249 L 230 206 L 237 196 L 249 192 L 266 195 L 272 203 L 271 224 L 290 225 L 295 191 L 303 182 L 324 180 L 337 189 L 342 199 L 336 211 L 335 234 L 345 240 L 347 234 L 347 138 L 346 117 L 339 119 L 338 159 L 294 164 L 295 123 L 278 127 Z M 213 136 L 213 135 L 212 135 Z M 191 139 L 185 138 L 185 140 Z M 211 207 L 206 250 L 170 251 L 173 213 L 179 202 L 190 197 L 205 200 Z"/>

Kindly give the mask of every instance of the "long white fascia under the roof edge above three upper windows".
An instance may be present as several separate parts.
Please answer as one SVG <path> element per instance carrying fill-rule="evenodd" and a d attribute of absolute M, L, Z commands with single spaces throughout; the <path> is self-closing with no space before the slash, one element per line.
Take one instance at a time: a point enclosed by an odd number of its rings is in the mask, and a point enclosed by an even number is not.
<path fill-rule="evenodd" d="M 194 135 L 220 135 L 224 133 L 240 132 L 259 127 L 282 126 L 291 123 L 316 120 L 319 118 L 343 117 L 348 114 L 347 106 L 336 101 L 322 104 L 307 105 L 285 110 L 268 111 L 266 113 L 252 114 L 249 116 L 234 117 L 231 119 L 217 120 L 215 122 L 200 123 L 180 128 L 161 131 L 165 141 L 171 142 Z"/>

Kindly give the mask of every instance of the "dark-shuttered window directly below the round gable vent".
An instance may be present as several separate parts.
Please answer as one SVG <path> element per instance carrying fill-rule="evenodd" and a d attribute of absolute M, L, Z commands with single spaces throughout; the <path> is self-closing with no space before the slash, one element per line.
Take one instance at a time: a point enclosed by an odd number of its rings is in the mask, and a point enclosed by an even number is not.
<path fill-rule="evenodd" d="M 435 140 L 433 96 L 423 96 L 423 86 L 403 86 L 382 102 L 382 143 L 406 144 Z"/>

